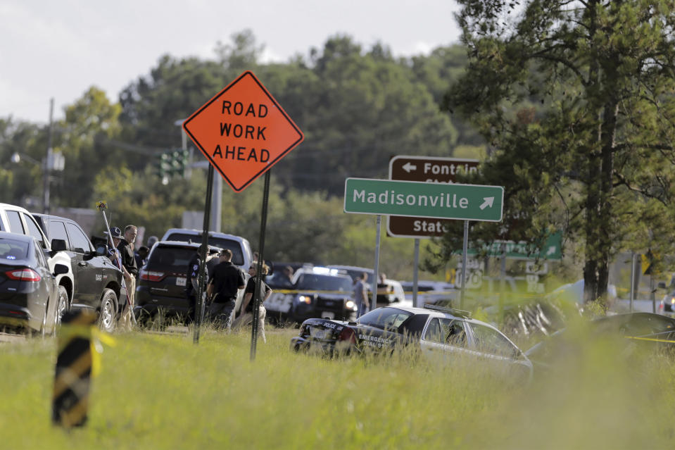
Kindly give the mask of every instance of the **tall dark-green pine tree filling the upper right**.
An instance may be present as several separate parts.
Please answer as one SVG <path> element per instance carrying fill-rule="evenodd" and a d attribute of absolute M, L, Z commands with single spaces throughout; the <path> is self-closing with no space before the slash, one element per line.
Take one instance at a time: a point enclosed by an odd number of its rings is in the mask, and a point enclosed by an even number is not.
<path fill-rule="evenodd" d="M 671 251 L 675 4 L 460 4 L 469 64 L 445 105 L 497 149 L 483 180 L 506 188 L 509 234 L 564 227 L 583 249 L 586 300 L 603 296 L 618 251 Z"/>

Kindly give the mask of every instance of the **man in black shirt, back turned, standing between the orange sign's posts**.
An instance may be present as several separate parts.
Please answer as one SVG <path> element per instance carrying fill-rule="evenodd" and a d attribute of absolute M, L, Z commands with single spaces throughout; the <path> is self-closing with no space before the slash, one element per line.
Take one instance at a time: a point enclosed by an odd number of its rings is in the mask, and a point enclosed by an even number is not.
<path fill-rule="evenodd" d="M 244 271 L 232 264 L 232 250 L 220 252 L 220 264 L 213 269 L 213 277 L 208 282 L 207 295 L 213 295 L 209 308 L 212 320 L 229 330 L 232 326 L 232 313 L 239 289 L 246 287 Z"/>

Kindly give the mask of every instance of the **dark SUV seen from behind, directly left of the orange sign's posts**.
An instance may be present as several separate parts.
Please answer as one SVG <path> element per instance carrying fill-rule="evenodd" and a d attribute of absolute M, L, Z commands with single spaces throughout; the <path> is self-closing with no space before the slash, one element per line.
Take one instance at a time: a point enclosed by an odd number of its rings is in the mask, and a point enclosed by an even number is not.
<path fill-rule="evenodd" d="M 139 271 L 134 313 L 139 321 L 156 315 L 184 320 L 189 304 L 185 292 L 188 264 L 200 244 L 160 241 L 153 245 L 148 262 Z M 209 246 L 215 253 L 219 248 Z M 216 256 L 217 257 L 217 256 Z"/>

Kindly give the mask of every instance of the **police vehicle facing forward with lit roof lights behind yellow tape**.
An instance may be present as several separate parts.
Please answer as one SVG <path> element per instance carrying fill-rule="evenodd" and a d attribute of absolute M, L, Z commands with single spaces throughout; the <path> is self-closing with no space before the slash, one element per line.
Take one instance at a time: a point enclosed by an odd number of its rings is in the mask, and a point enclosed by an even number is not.
<path fill-rule="evenodd" d="M 308 318 L 355 320 L 353 282 L 346 273 L 326 267 L 298 268 L 288 287 L 277 284 L 279 271 L 265 282 L 274 292 L 265 301 L 268 320 L 301 323 Z"/>

